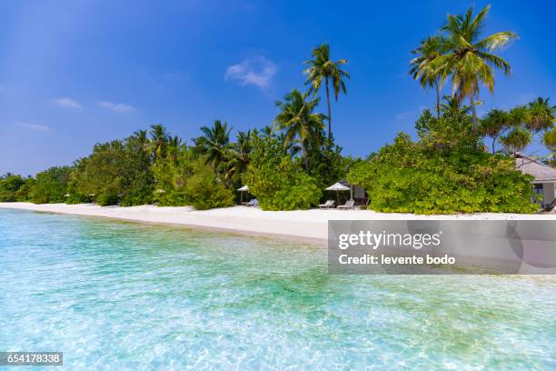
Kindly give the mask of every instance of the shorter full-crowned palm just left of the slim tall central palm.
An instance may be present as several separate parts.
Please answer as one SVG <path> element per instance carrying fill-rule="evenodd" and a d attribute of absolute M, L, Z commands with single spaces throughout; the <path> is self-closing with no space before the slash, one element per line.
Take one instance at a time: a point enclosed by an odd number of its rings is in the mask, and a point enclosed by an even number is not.
<path fill-rule="evenodd" d="M 309 92 L 302 94 L 293 89 L 283 97 L 283 101 L 277 101 L 276 106 L 280 113 L 274 119 L 274 125 L 278 130 L 284 130 L 283 145 L 288 147 L 297 143 L 302 151 L 305 170 L 309 171 L 309 146 L 320 145 L 320 135 L 323 130 L 322 114 L 313 114 L 314 108 L 319 104 L 319 98 L 307 100 Z"/>

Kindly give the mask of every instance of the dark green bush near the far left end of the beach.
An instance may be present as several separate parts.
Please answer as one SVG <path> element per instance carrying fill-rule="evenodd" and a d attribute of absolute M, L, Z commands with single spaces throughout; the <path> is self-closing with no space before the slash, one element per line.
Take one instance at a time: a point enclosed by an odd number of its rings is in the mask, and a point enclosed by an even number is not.
<path fill-rule="evenodd" d="M 31 188 L 31 200 L 35 204 L 55 204 L 65 202 L 72 168 L 69 166 L 51 167 L 36 175 L 35 186 Z"/>

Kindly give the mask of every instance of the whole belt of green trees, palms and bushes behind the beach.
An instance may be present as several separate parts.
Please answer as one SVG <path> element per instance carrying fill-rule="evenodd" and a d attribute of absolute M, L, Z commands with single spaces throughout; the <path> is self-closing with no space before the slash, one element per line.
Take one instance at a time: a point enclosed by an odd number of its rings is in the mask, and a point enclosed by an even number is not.
<path fill-rule="evenodd" d="M 330 196 L 325 187 L 347 177 L 366 190 L 369 208 L 377 211 L 532 212 L 531 178 L 514 169 L 511 155 L 535 138 L 556 150 L 556 106 L 540 97 L 478 117 L 480 85 L 493 92 L 494 70 L 511 72 L 494 52 L 517 37 L 509 31 L 481 37 L 488 10 L 449 15 L 436 35 L 412 51 L 410 74 L 436 93 L 433 113 L 423 111 L 415 123 L 417 140 L 400 133 L 364 160 L 342 155 L 334 144 L 330 95 L 332 90 L 337 101 L 345 94 L 350 75 L 343 69 L 347 61 L 331 60 L 324 44 L 305 62 L 308 90 L 293 89 L 276 102 L 271 125 L 233 138 L 233 127 L 215 120 L 201 127 L 192 145 L 152 125 L 148 132 L 94 145 L 91 155 L 72 166 L 52 167 L 35 178 L 3 175 L 0 201 L 208 209 L 233 206 L 236 189 L 247 185 L 263 209 L 293 210 L 316 206 Z M 442 101 L 448 81 L 453 93 Z M 319 112 L 321 96 L 326 115 Z M 543 160 L 556 162 L 553 154 Z"/>

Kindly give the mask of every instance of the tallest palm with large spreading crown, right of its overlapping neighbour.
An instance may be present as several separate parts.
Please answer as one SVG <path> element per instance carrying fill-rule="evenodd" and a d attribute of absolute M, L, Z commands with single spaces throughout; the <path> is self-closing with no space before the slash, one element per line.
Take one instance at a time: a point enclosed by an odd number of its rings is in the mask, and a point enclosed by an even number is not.
<path fill-rule="evenodd" d="M 442 80 L 452 75 L 452 89 L 460 100 L 469 98 L 475 133 L 477 131 L 475 97 L 479 94 L 479 83 L 487 86 L 493 93 L 492 69 L 501 69 L 506 75 L 511 73 L 508 62 L 491 52 L 510 45 L 511 41 L 517 38 L 513 32 L 503 31 L 480 39 L 490 7 L 490 5 L 485 6 L 474 17 L 472 7 L 465 15 L 448 15 L 448 21 L 441 31 L 448 35 L 446 47 L 449 51 L 431 62 L 433 69 L 442 72 Z"/>

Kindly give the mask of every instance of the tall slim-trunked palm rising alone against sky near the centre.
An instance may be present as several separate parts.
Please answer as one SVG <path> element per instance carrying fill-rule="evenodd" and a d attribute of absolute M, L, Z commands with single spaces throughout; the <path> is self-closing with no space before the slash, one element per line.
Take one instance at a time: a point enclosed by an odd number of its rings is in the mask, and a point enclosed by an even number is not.
<path fill-rule="evenodd" d="M 338 61 L 330 60 L 330 45 L 323 44 L 313 48 L 313 59 L 305 62 L 309 67 L 303 71 L 307 75 L 305 85 L 311 85 L 309 92 L 317 94 L 324 81 L 326 87 L 326 104 L 328 105 L 328 142 L 332 143 L 332 111 L 330 108 L 330 87 L 329 83 L 332 82 L 334 89 L 334 97 L 338 101 L 338 95 L 341 92 L 346 94 L 345 83 L 343 78 L 350 78 L 350 75 L 345 72 L 341 65 L 347 64 L 347 60 L 340 59 Z"/>

